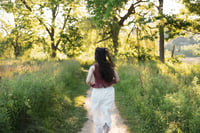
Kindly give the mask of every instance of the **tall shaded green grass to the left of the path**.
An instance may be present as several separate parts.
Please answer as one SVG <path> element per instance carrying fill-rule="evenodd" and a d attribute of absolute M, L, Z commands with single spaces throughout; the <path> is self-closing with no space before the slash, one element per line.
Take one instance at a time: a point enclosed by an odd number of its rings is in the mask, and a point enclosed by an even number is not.
<path fill-rule="evenodd" d="M 80 64 L 69 60 L 35 65 L 40 69 L 1 80 L 0 132 L 78 132 L 86 121 L 87 89 Z"/>

